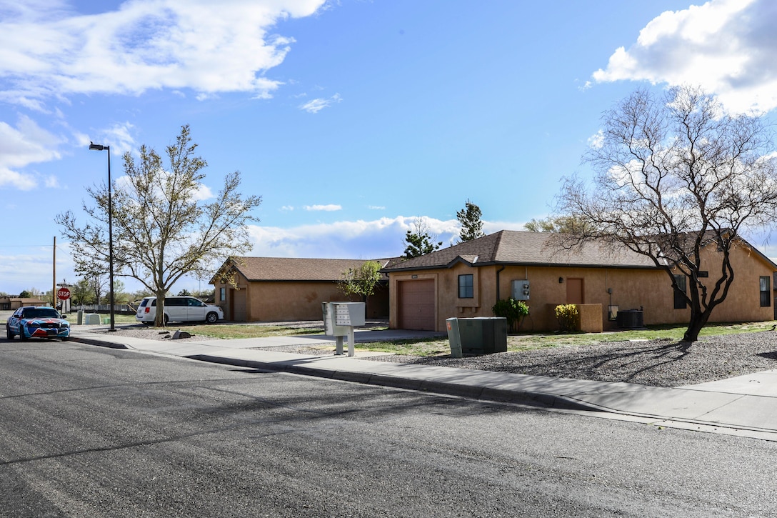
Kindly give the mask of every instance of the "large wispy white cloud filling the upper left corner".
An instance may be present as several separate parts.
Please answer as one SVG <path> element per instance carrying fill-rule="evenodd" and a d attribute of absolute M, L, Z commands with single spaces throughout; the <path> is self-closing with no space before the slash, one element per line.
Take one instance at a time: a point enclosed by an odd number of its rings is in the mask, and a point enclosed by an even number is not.
<path fill-rule="evenodd" d="M 325 2 L 137 0 L 93 15 L 61 0 L 36 0 L 34 9 L 3 2 L 0 100 L 41 110 L 47 98 L 73 93 L 168 88 L 267 97 L 281 83 L 263 73 L 294 42 L 267 30 Z"/>

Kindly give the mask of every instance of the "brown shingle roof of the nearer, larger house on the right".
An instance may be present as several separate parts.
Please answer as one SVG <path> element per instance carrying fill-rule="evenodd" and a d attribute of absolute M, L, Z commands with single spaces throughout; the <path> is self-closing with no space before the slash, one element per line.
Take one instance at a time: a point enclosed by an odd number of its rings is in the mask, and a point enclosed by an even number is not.
<path fill-rule="evenodd" d="M 648 257 L 630 250 L 613 250 L 587 244 L 579 250 L 563 250 L 554 246 L 551 233 L 500 232 L 437 250 L 420 257 L 390 264 L 385 271 L 444 268 L 456 261 L 473 266 L 481 264 L 527 264 L 553 266 L 594 266 L 608 268 L 656 268 Z"/>

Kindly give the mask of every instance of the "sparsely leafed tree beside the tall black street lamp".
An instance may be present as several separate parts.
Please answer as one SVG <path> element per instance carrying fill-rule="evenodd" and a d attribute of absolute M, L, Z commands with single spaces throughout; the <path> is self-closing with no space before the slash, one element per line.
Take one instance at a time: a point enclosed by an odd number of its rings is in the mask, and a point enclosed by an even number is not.
<path fill-rule="evenodd" d="M 202 170 L 207 163 L 194 154 L 188 126 L 167 146 L 167 168 L 154 149 L 141 145 L 140 160 L 124 154 L 124 182 L 113 186 L 114 268 L 138 279 L 157 297 L 156 326 L 164 325 L 166 292 L 183 275 L 211 278 L 225 257 L 251 249 L 246 230 L 259 196 L 242 196 L 240 173 L 225 175 L 224 187 L 211 203 L 198 203 Z M 71 242 L 76 271 L 107 262 L 108 190 L 87 189 L 96 202 L 84 206 L 90 222 L 78 226 L 71 212 L 57 215 Z"/>

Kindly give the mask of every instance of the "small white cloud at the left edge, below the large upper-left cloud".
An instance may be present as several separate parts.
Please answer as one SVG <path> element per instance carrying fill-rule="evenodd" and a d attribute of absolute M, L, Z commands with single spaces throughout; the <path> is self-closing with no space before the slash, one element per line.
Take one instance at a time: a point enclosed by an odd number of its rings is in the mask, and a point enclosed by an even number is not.
<path fill-rule="evenodd" d="M 0 121 L 0 188 L 10 186 L 30 191 L 41 182 L 52 187 L 50 178 L 40 178 L 37 173 L 22 170 L 32 163 L 59 159 L 56 148 L 63 141 L 40 128 L 30 117 L 19 117 L 16 128 Z"/>

